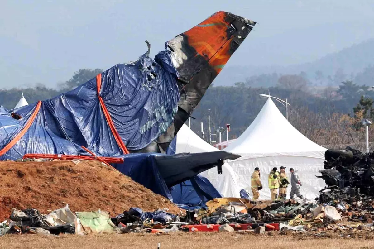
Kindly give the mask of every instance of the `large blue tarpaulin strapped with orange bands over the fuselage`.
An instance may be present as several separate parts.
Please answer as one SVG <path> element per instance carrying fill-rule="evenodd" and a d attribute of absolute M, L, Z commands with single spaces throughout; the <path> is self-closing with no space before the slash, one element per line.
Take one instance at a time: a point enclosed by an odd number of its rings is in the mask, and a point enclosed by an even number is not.
<path fill-rule="evenodd" d="M 0 160 L 20 159 L 24 154 L 85 154 L 83 145 L 98 156 L 119 156 L 123 151 L 104 115 L 103 106 L 128 150 L 140 150 L 165 133 L 173 122 L 180 98 L 170 51 L 155 61 L 147 54 L 131 64 L 118 64 L 96 78 L 56 98 L 14 110 L 21 119 L 0 117 L 0 151 L 30 128 Z M 36 118 L 31 117 L 36 111 Z M 1 109 L 1 113 L 4 110 Z"/>

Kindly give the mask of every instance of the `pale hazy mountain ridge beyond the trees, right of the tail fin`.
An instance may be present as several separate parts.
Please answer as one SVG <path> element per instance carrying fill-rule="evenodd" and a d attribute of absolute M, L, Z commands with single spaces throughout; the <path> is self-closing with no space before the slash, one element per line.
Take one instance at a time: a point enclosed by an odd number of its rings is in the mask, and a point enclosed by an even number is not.
<path fill-rule="evenodd" d="M 232 86 L 245 82 L 250 86 L 275 86 L 282 74 L 304 73 L 317 86 L 337 86 L 341 81 L 354 80 L 371 85 L 374 80 L 374 39 L 354 44 L 316 61 L 290 66 L 227 66 L 215 80 L 216 86 Z"/>

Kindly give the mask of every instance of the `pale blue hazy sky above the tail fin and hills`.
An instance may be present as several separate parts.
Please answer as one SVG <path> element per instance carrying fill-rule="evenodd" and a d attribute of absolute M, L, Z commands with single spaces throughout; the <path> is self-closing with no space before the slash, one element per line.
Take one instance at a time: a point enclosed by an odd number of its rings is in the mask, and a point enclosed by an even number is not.
<path fill-rule="evenodd" d="M 313 61 L 373 38 L 372 0 L 13 0 L 0 15 L 1 87 L 54 87 L 79 68 L 136 60 L 224 10 L 258 24 L 228 65 Z"/>

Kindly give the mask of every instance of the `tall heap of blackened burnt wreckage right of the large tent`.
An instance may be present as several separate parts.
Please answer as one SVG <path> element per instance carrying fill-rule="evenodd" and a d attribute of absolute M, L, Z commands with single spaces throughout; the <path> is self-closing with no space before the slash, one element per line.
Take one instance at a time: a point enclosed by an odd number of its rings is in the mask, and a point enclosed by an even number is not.
<path fill-rule="evenodd" d="M 324 170 L 317 176 L 328 185 L 320 191 L 319 201 L 372 199 L 374 196 L 374 153 L 362 154 L 347 147 L 327 150 Z M 327 191 L 330 190 L 330 191 Z"/>

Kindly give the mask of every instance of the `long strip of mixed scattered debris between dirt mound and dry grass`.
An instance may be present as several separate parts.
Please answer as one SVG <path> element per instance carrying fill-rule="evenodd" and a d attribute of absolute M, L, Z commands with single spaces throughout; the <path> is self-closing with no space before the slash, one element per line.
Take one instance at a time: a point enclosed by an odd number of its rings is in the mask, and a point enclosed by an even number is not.
<path fill-rule="evenodd" d="M 0 223 L 0 234 L 80 234 L 90 233 L 173 233 L 186 232 L 252 232 L 288 233 L 359 233 L 374 230 L 374 222 L 343 222 L 339 202 L 317 203 L 316 200 L 276 201 L 257 208 L 257 203 L 241 198 L 217 198 L 206 207 L 177 215 L 165 209 L 153 212 L 131 207 L 112 216 L 102 210 L 71 212 L 68 205 L 43 215 L 37 209 L 12 209 L 10 220 Z M 329 205 L 331 204 L 331 205 Z M 332 206 L 334 205 L 334 206 Z M 244 208 L 243 208 L 244 207 Z M 338 207 L 338 208 L 337 208 Z M 351 218 L 352 220 L 352 218 Z M 346 236 L 346 235 L 344 235 Z"/>

